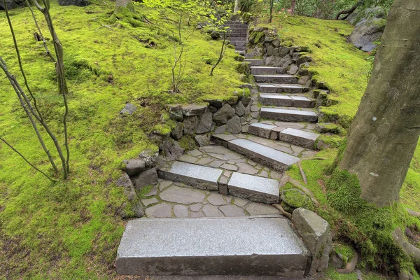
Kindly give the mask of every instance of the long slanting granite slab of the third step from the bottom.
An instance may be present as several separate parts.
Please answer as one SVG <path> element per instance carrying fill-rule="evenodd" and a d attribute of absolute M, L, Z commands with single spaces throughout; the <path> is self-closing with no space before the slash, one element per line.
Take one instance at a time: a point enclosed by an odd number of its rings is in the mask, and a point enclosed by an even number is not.
<path fill-rule="evenodd" d="M 288 169 L 290 165 L 294 165 L 299 161 L 299 158 L 296 158 L 293 155 L 288 155 L 287 153 L 276 151 L 274 148 L 269 148 L 247 139 L 235 139 L 229 141 L 228 147 L 232 151 L 246 155 L 254 162 L 258 162 L 267 167 L 271 167 L 272 169 L 279 172 Z"/>

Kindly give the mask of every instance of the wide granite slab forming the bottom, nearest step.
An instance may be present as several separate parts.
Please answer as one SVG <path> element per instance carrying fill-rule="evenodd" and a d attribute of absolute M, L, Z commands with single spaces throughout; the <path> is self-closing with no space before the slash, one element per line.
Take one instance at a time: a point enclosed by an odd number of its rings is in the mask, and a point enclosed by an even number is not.
<path fill-rule="evenodd" d="M 286 218 L 153 218 L 127 223 L 116 271 L 302 277 L 308 259 Z"/>

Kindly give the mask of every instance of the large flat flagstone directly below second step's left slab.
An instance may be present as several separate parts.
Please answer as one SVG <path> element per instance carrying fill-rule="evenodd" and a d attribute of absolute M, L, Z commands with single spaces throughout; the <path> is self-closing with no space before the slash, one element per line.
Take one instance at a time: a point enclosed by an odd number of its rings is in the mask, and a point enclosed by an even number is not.
<path fill-rule="evenodd" d="M 206 195 L 200 190 L 191 188 L 180 188 L 177 186 L 170 186 L 160 193 L 160 199 L 167 202 L 175 202 L 180 204 L 193 204 L 202 202 Z"/>

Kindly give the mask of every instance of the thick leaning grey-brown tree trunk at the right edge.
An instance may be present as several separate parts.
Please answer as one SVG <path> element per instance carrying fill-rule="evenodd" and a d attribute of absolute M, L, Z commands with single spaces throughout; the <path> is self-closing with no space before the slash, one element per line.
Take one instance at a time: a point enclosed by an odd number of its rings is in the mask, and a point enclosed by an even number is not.
<path fill-rule="evenodd" d="M 340 169 L 378 207 L 399 193 L 420 134 L 420 1 L 395 0 Z"/>

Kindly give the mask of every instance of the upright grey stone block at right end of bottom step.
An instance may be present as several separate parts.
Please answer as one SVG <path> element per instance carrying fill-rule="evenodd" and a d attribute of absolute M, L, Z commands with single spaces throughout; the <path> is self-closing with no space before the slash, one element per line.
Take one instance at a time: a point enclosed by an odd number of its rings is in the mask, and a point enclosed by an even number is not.
<path fill-rule="evenodd" d="M 328 222 L 312 211 L 297 208 L 293 211 L 292 223 L 311 252 L 310 267 L 307 274 L 314 275 L 316 272 L 326 269 L 332 248 Z"/>

